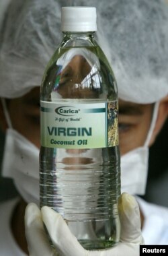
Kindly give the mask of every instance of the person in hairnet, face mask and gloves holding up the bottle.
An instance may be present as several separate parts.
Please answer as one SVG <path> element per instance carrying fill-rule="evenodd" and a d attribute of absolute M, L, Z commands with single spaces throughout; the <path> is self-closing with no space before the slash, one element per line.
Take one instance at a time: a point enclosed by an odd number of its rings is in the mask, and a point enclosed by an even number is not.
<path fill-rule="evenodd" d="M 77 1 L 95 5 L 99 27 L 106 28 L 97 33 L 97 38 L 107 50 L 118 81 L 122 191 L 142 195 L 149 146 L 168 112 L 168 7 L 163 0 L 101 2 Z M 7 5 L 7 1 L 4 3 Z M 41 213 L 34 205 L 39 201 L 40 84 L 46 63 L 60 42 L 61 5 L 66 5 L 65 1 L 13 0 L 3 9 L 0 120 L 6 139 L 2 172 L 14 180 L 20 194 L 0 205 L 3 256 L 28 255 L 28 247 L 31 255 L 52 255 L 42 220 L 60 254 L 89 255 L 58 214 L 47 207 Z M 123 194 L 120 198 L 121 241 L 101 255 L 138 255 L 143 238 L 146 244 L 168 244 L 167 208 L 136 199 L 140 214 L 134 197 Z"/>

